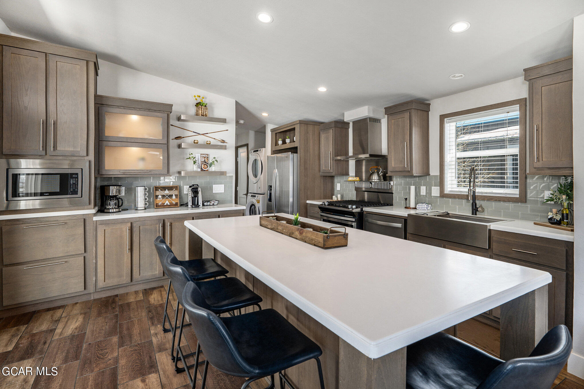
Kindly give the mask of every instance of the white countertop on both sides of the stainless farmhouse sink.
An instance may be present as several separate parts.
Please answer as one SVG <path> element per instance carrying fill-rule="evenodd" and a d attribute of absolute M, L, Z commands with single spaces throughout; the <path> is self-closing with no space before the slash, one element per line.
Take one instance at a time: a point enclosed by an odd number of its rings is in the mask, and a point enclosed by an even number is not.
<path fill-rule="evenodd" d="M 385 213 L 393 216 L 408 216 L 410 213 L 425 212 L 420 209 L 405 209 L 402 206 L 370 206 L 363 208 L 363 211 Z M 486 216 L 487 218 L 489 216 Z M 501 219 L 501 218 L 496 218 Z M 489 225 L 492 230 L 515 232 L 544 238 L 574 241 L 574 233 L 562 231 L 551 227 L 536 226 L 531 220 L 506 219 L 507 222 L 493 223 Z"/>

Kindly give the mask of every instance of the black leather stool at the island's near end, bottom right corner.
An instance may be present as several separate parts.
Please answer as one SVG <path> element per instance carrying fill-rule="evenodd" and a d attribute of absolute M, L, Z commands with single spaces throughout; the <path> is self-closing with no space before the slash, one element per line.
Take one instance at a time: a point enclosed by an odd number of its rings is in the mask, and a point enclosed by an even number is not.
<path fill-rule="evenodd" d="M 545 334 L 529 357 L 507 362 L 439 332 L 408 346 L 406 388 L 550 389 L 571 351 L 565 325 Z"/>

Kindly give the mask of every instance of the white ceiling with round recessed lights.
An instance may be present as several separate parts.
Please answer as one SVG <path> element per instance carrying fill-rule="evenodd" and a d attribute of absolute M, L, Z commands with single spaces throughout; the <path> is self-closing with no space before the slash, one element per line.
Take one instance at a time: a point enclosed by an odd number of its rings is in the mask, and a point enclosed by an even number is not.
<path fill-rule="evenodd" d="M 260 11 L 273 23 L 258 22 Z M 13 33 L 231 97 L 252 130 L 521 76 L 572 53 L 581 13 L 582 0 L 0 2 Z M 450 33 L 458 20 L 470 29 Z"/>

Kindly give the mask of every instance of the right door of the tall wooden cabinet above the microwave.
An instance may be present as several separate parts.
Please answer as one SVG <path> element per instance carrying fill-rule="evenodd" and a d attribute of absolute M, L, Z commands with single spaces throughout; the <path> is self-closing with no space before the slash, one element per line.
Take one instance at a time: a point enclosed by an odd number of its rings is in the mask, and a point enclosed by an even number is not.
<path fill-rule="evenodd" d="M 87 65 L 48 54 L 48 155 L 87 155 Z"/>

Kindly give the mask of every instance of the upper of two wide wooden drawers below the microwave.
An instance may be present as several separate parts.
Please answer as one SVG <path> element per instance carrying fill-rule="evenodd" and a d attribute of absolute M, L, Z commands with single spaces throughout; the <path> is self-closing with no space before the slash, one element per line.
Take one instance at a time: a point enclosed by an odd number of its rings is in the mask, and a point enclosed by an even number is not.
<path fill-rule="evenodd" d="M 85 253 L 84 219 L 2 226 L 5 265 Z"/>

